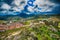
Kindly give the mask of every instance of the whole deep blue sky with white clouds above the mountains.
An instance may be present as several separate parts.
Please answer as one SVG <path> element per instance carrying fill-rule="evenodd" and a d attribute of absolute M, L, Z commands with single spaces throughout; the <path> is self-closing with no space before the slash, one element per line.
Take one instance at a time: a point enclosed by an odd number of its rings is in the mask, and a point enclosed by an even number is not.
<path fill-rule="evenodd" d="M 60 0 L 0 0 L 0 15 L 60 14 Z"/>

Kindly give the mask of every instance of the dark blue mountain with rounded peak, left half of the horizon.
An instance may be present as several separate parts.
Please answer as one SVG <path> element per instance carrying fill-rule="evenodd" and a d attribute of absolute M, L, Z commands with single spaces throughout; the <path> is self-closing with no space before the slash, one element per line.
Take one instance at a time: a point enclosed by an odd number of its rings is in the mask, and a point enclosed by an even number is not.
<path fill-rule="evenodd" d="M 28 18 L 28 17 L 33 17 L 35 16 L 34 14 L 30 14 L 30 15 L 27 15 L 27 14 L 19 14 L 19 15 L 0 15 L 0 20 L 7 20 L 9 18 L 13 18 L 13 17 L 21 17 L 21 18 Z"/>

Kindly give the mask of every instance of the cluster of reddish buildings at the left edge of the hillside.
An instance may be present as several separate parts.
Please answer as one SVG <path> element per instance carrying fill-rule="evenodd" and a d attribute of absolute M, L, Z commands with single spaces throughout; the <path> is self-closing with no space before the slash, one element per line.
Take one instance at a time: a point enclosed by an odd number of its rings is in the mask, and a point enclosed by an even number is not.
<path fill-rule="evenodd" d="M 7 25 L 0 24 L 0 31 L 11 30 L 11 29 L 15 29 L 15 28 L 20 28 L 22 26 L 23 26 L 23 24 L 19 23 L 19 22 L 7 24 Z"/>

